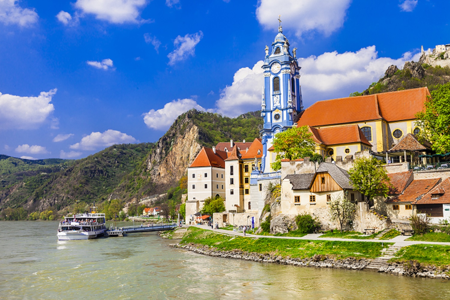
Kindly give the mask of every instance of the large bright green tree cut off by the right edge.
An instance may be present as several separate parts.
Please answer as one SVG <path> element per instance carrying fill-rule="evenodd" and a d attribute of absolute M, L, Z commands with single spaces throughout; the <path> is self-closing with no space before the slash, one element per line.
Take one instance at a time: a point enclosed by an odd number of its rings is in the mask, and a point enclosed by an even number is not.
<path fill-rule="evenodd" d="M 443 154 L 450 152 L 450 82 L 438 85 L 424 105 L 424 111 L 416 114 L 420 128 L 419 139 L 431 142 L 432 149 Z"/>

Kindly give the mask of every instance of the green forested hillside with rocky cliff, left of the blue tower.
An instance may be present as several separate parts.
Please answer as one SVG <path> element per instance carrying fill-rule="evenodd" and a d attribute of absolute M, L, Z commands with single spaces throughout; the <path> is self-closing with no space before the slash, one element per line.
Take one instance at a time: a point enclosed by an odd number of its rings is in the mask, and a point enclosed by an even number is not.
<path fill-rule="evenodd" d="M 113 199 L 123 207 L 168 190 L 166 200 L 177 202 L 183 191 L 180 179 L 202 146 L 229 139 L 252 141 L 259 137 L 262 123 L 259 112 L 228 118 L 191 110 L 180 115 L 157 143 L 113 145 L 75 161 L 2 156 L 1 216 L 23 219 L 49 210 L 61 215 L 83 210 L 93 201 L 107 207 Z M 108 202 L 103 205 L 104 201 Z"/>

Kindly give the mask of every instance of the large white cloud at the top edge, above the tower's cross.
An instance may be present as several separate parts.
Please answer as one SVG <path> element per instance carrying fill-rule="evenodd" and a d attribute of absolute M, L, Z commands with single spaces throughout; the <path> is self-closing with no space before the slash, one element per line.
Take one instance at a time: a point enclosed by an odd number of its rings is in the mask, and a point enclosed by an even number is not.
<path fill-rule="evenodd" d="M 256 10 L 257 19 L 266 29 L 277 30 L 278 15 L 284 28 L 293 29 L 297 36 L 307 31 L 318 31 L 329 36 L 344 24 L 351 0 L 261 0 Z"/>

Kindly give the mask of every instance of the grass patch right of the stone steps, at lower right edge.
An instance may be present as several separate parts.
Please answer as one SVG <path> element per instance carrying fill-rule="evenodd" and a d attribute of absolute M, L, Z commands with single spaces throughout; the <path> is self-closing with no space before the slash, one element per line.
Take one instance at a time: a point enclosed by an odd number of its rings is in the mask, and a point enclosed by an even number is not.
<path fill-rule="evenodd" d="M 444 266 L 450 264 L 450 246 L 411 245 L 400 249 L 391 261 L 417 260 L 419 263 Z"/>

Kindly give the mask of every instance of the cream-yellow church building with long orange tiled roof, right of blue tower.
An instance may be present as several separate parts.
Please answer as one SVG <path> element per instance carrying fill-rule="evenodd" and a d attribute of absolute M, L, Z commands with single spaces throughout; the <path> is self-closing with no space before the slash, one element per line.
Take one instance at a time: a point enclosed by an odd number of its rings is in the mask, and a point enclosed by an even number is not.
<path fill-rule="evenodd" d="M 356 151 L 369 147 L 374 152 L 383 152 L 392 148 L 406 134 L 417 134 L 415 114 L 423 110 L 427 96 L 427 87 L 387 92 L 373 95 L 347 97 L 318 101 L 299 114 L 297 126 L 311 126 L 319 131 L 326 128 L 330 132 L 323 132 L 324 138 L 332 141 L 321 143 L 319 153 L 336 159 L 336 156 L 352 155 Z M 352 130 L 348 125 L 357 125 L 359 134 L 351 133 L 351 140 L 347 141 Z M 355 127 L 356 128 L 356 127 Z M 341 132 L 341 133 L 340 133 Z M 314 133 L 314 132 L 313 132 Z M 364 134 L 365 139 L 358 135 Z M 317 134 L 315 134 L 317 139 Z M 322 139 L 319 138 L 321 142 Z M 367 143 L 369 142 L 369 144 Z M 358 146 L 352 147 L 358 144 Z M 400 158 L 401 159 L 401 158 Z"/>

